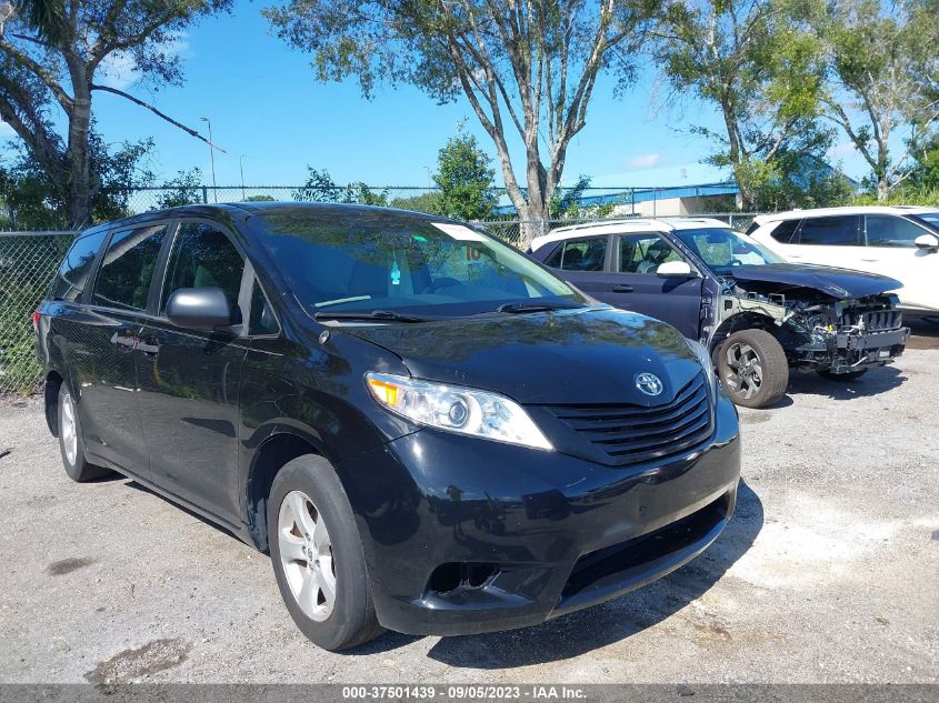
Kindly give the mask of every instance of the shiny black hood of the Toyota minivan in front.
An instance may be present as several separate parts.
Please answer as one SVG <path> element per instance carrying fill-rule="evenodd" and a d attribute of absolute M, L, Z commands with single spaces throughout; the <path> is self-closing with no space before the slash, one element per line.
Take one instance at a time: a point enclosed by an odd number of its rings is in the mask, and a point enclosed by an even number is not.
<path fill-rule="evenodd" d="M 678 330 L 612 309 L 460 318 L 418 324 L 349 325 L 343 332 L 398 354 L 420 379 L 468 385 L 523 404 L 652 406 L 700 372 Z M 663 392 L 639 392 L 655 373 Z"/>

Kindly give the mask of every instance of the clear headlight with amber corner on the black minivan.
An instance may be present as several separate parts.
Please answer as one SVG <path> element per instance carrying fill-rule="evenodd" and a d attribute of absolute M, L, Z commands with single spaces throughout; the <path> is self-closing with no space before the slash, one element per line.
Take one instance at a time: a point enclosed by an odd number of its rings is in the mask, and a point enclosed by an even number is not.
<path fill-rule="evenodd" d="M 386 373 L 367 373 L 366 383 L 381 405 L 414 422 L 497 442 L 555 449 L 521 405 L 505 395 Z"/>

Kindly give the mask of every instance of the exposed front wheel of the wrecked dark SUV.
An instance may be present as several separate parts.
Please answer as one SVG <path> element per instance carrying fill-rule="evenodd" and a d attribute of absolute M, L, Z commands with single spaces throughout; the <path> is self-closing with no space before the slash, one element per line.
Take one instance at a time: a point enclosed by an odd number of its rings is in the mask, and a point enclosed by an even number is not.
<path fill-rule="evenodd" d="M 769 332 L 741 330 L 720 348 L 718 372 L 733 402 L 745 408 L 766 408 L 786 394 L 789 362 Z"/>

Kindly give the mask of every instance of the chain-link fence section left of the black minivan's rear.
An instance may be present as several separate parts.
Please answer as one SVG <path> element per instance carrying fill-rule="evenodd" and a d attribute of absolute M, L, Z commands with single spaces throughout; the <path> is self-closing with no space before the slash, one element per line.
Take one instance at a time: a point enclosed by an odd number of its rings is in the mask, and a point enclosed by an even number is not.
<path fill-rule="evenodd" d="M 38 389 L 32 313 L 68 251 L 70 232 L 0 233 L 0 393 Z"/>

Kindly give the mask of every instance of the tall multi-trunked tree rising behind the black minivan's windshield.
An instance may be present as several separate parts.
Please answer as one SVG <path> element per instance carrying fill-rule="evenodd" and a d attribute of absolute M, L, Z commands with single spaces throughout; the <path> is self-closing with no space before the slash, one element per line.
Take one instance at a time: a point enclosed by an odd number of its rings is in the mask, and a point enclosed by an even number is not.
<path fill-rule="evenodd" d="M 633 78 L 653 0 L 284 0 L 264 10 L 311 52 L 319 80 L 409 83 L 439 102 L 464 97 L 491 138 L 523 221 L 545 221 L 597 78 Z M 525 148 L 516 173 L 509 142 Z M 540 224 L 526 227 L 530 239 Z M 527 242 L 523 242 L 527 243 Z"/>

